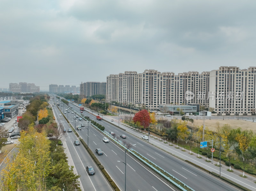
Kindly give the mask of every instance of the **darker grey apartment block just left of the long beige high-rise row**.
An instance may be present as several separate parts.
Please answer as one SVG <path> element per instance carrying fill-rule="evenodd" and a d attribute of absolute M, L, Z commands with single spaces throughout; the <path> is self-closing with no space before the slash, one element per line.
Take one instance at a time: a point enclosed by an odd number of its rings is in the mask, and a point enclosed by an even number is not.
<path fill-rule="evenodd" d="M 80 95 L 106 95 L 106 82 L 81 82 Z"/>

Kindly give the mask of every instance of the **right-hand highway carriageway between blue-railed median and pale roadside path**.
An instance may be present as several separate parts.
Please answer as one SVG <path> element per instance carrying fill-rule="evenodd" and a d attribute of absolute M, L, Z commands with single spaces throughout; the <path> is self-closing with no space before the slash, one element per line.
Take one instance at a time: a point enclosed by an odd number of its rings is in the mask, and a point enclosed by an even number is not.
<path fill-rule="evenodd" d="M 74 109 L 74 111 L 76 111 L 77 113 L 80 113 L 80 110 L 78 107 L 73 106 L 72 109 Z M 92 115 L 91 112 L 90 113 L 86 112 L 83 114 L 89 116 L 90 119 L 96 121 L 95 116 Z M 115 126 L 111 125 L 110 123 L 108 123 L 106 121 L 102 120 L 102 121 L 97 121 L 97 122 L 99 124 L 103 125 L 105 127 L 106 131 L 113 131 L 114 133 L 116 133 L 116 136 L 125 134 L 125 131 L 116 128 Z M 85 131 L 85 132 L 87 132 L 87 131 Z M 89 134 L 90 134 L 90 132 L 89 132 Z M 84 135 L 86 137 L 83 137 L 83 138 L 84 138 L 84 140 L 86 140 L 87 134 L 85 133 Z M 178 178 L 179 180 L 181 180 L 182 182 L 184 182 L 185 184 L 187 184 L 189 187 L 193 188 L 194 190 L 205 190 L 206 188 L 207 188 L 207 190 L 216 190 L 216 189 L 218 189 L 218 190 L 238 190 L 237 188 L 228 185 L 226 182 L 220 181 L 219 179 L 216 179 L 216 177 L 213 177 L 213 176 L 205 173 L 204 171 L 198 170 L 194 166 L 191 166 L 191 165 L 185 163 L 184 161 L 182 161 L 176 157 L 173 157 L 172 155 L 170 155 L 160 149 L 157 149 L 156 147 L 148 144 L 147 142 L 145 142 L 142 139 L 139 139 L 139 138 L 134 137 L 129 134 L 126 134 L 126 136 L 127 136 L 127 138 L 125 140 L 126 142 L 131 143 L 131 144 L 136 144 L 133 147 L 134 150 L 136 150 L 141 155 L 145 156 L 146 158 L 148 158 L 149 160 L 151 160 L 158 166 L 162 167 L 168 173 L 172 174 L 173 176 L 175 176 L 176 178 Z M 91 137 L 91 136 L 89 135 L 89 137 Z M 91 139 L 89 138 L 89 140 L 91 140 Z M 89 147 L 90 147 L 90 144 L 92 144 L 92 143 L 89 141 Z M 95 144 L 95 147 L 98 146 L 96 142 L 94 144 Z M 105 150 L 104 147 L 102 149 Z M 111 154 L 115 155 L 114 152 Z M 102 157 L 102 156 L 100 156 L 100 157 Z M 124 160 L 124 158 L 123 158 L 123 160 Z M 100 162 L 102 162 L 102 164 L 104 164 L 104 162 L 102 160 L 100 160 Z M 109 165 L 111 165 L 111 164 L 109 164 Z M 122 165 L 122 163 L 120 163 L 119 165 Z M 116 165 L 116 166 L 118 166 L 118 165 Z M 115 167 L 114 164 L 112 164 L 112 169 L 114 169 L 113 167 Z M 110 174 L 112 175 L 112 173 L 117 173 L 118 171 L 119 171 L 118 169 L 114 169 L 113 171 L 110 171 Z M 127 182 L 130 181 L 128 179 L 130 179 L 130 178 L 127 177 Z"/>

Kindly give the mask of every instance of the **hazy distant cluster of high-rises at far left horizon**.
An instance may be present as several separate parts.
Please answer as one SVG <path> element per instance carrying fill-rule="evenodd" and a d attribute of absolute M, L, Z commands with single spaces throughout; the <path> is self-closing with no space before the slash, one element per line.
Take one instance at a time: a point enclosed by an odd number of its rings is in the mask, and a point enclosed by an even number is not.
<path fill-rule="evenodd" d="M 20 92 L 40 92 L 40 87 L 36 86 L 35 84 L 27 84 L 27 82 L 20 82 L 17 83 L 10 83 L 9 84 L 9 91 L 13 93 L 20 93 Z"/>

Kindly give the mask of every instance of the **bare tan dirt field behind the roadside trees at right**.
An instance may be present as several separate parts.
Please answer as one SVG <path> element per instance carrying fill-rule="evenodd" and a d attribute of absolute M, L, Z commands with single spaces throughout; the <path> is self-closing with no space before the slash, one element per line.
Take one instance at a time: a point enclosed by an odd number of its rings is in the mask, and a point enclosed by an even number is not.
<path fill-rule="evenodd" d="M 220 126 L 223 126 L 224 124 L 229 124 L 232 129 L 241 128 L 242 130 L 251 129 L 254 133 L 256 133 L 256 123 L 250 122 L 250 121 L 243 121 L 243 120 L 205 120 L 204 125 L 205 128 L 208 128 L 208 130 L 215 130 L 216 122 L 219 121 Z M 188 125 L 191 126 L 202 126 L 203 120 L 194 120 L 194 124 L 192 125 L 191 122 L 188 122 Z"/>

